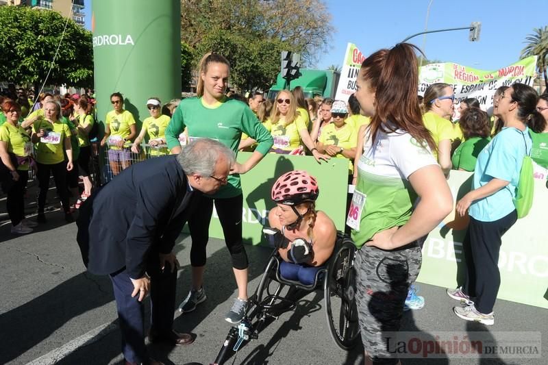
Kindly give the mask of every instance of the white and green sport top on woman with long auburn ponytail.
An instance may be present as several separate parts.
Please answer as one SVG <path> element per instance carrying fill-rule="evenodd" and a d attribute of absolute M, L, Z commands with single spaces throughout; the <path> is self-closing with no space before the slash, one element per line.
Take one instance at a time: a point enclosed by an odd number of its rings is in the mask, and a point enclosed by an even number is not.
<path fill-rule="evenodd" d="M 349 212 L 356 247 L 371 240 L 378 231 L 409 221 L 416 200 L 408 178 L 424 166 L 437 164 L 427 144 L 417 142 L 406 131 L 379 129 L 375 146 L 366 136 L 358 162 L 358 181 Z"/>

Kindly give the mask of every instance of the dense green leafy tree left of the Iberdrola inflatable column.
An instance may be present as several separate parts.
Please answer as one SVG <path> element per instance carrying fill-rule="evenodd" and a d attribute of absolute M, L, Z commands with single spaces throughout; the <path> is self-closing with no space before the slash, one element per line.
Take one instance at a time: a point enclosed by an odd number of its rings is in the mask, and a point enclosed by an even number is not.
<path fill-rule="evenodd" d="M 47 84 L 92 87 L 91 32 L 58 12 L 0 6 L 0 79 L 41 85 L 60 42 Z"/>

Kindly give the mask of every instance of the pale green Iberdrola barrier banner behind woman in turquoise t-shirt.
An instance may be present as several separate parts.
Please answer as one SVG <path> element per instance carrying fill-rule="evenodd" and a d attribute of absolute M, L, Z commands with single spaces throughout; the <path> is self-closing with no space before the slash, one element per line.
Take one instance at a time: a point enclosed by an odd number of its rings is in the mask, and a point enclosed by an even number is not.
<path fill-rule="evenodd" d="M 451 171 L 449 187 L 458 201 L 471 189 L 472 173 Z M 548 308 L 548 225 L 544 215 L 548 207 L 546 181 L 535 179 L 534 203 L 529 215 L 517 221 L 502 237 L 499 270 L 501 287 L 498 298 Z M 462 240 L 469 218 L 453 210 L 434 231 L 423 247 L 423 266 L 417 281 L 456 288 L 462 285 L 466 271 Z"/>

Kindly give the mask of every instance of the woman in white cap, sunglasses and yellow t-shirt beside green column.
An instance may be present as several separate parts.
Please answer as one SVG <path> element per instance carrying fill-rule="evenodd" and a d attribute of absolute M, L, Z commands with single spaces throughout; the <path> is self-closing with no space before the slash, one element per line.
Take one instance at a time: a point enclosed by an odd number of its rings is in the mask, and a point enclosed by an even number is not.
<path fill-rule="evenodd" d="M 162 103 L 157 97 L 151 97 L 147 100 L 147 108 L 150 116 L 142 122 L 142 128 L 139 136 L 135 139 L 132 145 L 132 151 L 139 153 L 139 145 L 141 144 L 145 134 L 149 138 L 149 155 L 162 156 L 169 154 L 166 147 L 158 147 L 160 144 L 166 144 L 166 128 L 171 118 L 162 114 L 160 108 Z"/>

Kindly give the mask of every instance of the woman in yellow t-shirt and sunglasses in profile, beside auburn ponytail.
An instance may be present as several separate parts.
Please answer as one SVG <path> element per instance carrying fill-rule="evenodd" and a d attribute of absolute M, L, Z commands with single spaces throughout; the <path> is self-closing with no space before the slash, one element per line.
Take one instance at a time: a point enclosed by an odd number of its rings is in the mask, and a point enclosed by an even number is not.
<path fill-rule="evenodd" d="M 434 157 L 438 159 L 441 169 L 445 176 L 449 175 L 451 167 L 451 141 L 455 136 L 451 117 L 455 110 L 455 95 L 453 88 L 449 84 L 439 82 L 428 86 L 424 93 L 424 108 L 423 122 L 432 134 L 436 143 L 436 151 Z"/>

